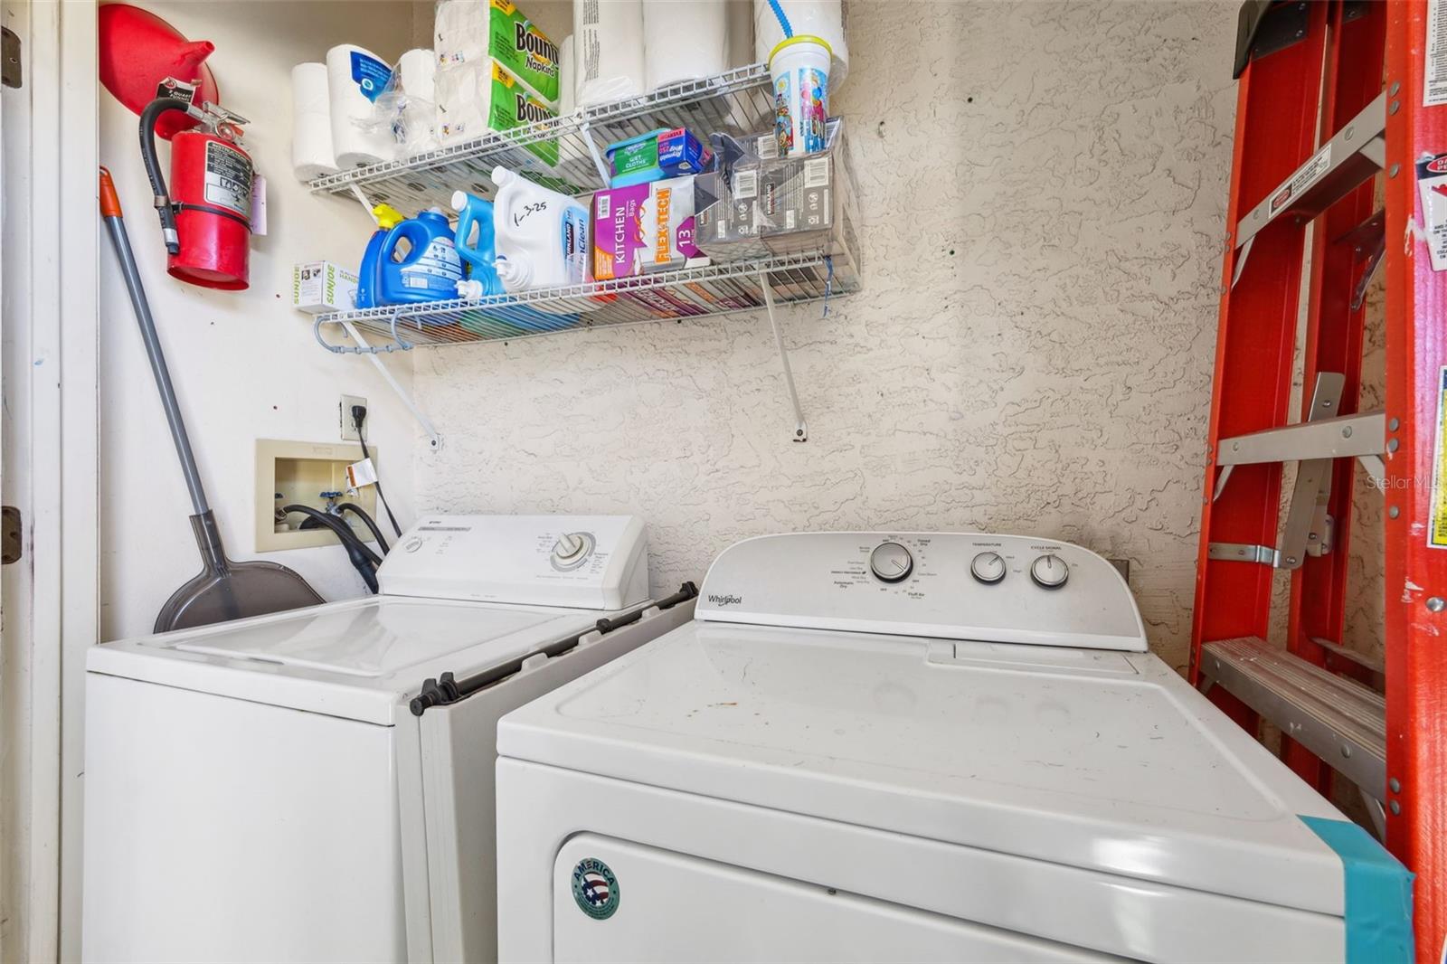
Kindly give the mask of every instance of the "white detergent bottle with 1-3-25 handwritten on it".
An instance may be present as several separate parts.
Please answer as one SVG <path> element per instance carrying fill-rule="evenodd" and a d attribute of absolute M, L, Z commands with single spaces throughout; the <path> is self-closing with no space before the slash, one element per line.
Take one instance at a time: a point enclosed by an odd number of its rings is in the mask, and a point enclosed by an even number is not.
<path fill-rule="evenodd" d="M 506 168 L 493 168 L 492 182 L 498 185 L 492 198 L 493 263 L 502 287 L 512 294 L 585 284 L 587 208 Z"/>

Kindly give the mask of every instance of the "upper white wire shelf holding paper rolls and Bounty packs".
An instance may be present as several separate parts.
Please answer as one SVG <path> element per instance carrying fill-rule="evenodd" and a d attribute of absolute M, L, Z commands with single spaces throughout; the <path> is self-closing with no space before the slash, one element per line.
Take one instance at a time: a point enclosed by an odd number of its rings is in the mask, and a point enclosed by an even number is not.
<path fill-rule="evenodd" d="M 357 188 L 369 204 L 386 203 L 407 213 L 433 206 L 449 210 L 453 191 L 491 198 L 488 175 L 502 165 L 554 191 L 589 194 L 606 187 L 602 152 L 614 142 L 658 127 L 687 127 L 699 138 L 716 130 L 751 133 L 773 126 L 773 117 L 768 68 L 751 64 L 663 87 L 645 97 L 489 132 L 405 161 L 341 171 L 308 187 L 315 194 L 352 194 Z"/>

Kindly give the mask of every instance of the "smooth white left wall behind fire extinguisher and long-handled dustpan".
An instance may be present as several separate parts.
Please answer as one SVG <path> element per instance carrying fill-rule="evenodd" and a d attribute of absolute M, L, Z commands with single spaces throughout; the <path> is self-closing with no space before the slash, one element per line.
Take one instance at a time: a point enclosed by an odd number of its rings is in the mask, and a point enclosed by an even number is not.
<path fill-rule="evenodd" d="M 355 203 L 313 198 L 291 174 L 291 68 L 328 46 L 362 43 L 395 58 L 411 46 L 410 3 L 143 3 L 210 58 L 221 101 L 249 117 L 246 148 L 268 184 L 268 227 L 252 240 L 243 292 L 205 291 L 165 274 L 165 250 L 136 148 L 136 116 L 100 93 L 100 158 L 126 210 L 132 246 L 161 330 L 211 507 L 229 553 L 291 566 L 327 599 L 359 595 L 340 547 L 258 554 L 253 536 L 256 439 L 339 441 L 337 399 L 369 401 L 369 439 L 388 498 L 411 518 L 415 424 L 359 358 L 323 352 L 291 308 L 291 269 L 327 258 L 355 265 L 372 223 Z M 166 149 L 162 165 L 169 169 Z M 100 224 L 97 221 L 97 230 Z M 166 433 L 140 336 L 109 240 L 101 240 L 101 640 L 149 633 L 172 591 L 200 570 L 191 505 Z M 391 362 L 410 381 L 411 366 Z"/>

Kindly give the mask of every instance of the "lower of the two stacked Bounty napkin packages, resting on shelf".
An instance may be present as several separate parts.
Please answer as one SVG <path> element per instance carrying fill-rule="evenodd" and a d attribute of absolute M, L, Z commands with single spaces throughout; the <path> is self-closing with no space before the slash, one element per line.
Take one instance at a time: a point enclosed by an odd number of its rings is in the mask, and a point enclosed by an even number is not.
<path fill-rule="evenodd" d="M 443 145 L 550 120 L 557 113 L 493 61 L 438 69 L 437 136 Z M 548 165 L 557 164 L 557 140 L 525 145 Z"/>

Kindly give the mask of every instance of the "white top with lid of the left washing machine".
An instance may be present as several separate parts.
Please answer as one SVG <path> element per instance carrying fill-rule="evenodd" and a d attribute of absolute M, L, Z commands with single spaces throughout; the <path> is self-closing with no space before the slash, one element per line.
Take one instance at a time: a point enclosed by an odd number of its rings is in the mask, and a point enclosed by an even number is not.
<path fill-rule="evenodd" d="M 425 679 L 459 677 L 592 630 L 619 611 L 369 596 L 93 647 L 85 667 L 391 724 Z"/>

